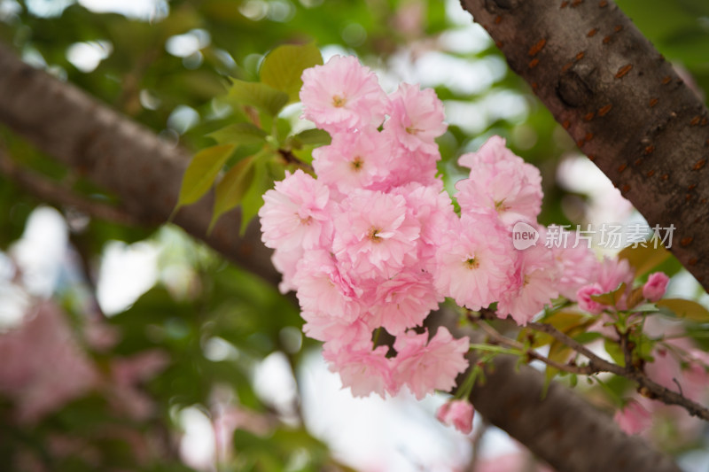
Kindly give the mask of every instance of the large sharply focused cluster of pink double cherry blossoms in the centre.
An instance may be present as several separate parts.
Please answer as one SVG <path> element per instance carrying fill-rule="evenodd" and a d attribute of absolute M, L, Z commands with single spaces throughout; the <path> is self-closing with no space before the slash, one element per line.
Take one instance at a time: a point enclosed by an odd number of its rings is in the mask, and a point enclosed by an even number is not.
<path fill-rule="evenodd" d="M 455 385 L 468 338 L 424 328 L 444 298 L 471 310 L 496 303 L 525 325 L 560 294 L 632 279 L 627 263 L 599 262 L 583 245 L 514 248 L 518 221 L 544 231 L 541 175 L 499 136 L 459 159 L 470 174 L 456 184 L 456 213 L 436 175 L 447 125 L 433 90 L 402 83 L 387 95 L 354 57 L 302 78 L 302 116 L 332 139 L 313 151 L 316 177 L 298 170 L 264 195 L 262 240 L 276 250 L 281 290 L 296 291 L 305 332 L 355 396 L 407 386 L 423 398 Z M 383 330 L 392 345 L 378 345 Z"/>

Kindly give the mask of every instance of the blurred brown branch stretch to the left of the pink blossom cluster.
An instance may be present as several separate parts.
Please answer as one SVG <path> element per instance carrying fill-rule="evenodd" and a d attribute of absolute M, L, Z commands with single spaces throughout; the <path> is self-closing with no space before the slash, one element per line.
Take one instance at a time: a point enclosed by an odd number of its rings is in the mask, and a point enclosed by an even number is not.
<path fill-rule="evenodd" d="M 20 61 L 0 44 L 0 122 L 90 180 L 121 197 L 137 220 L 160 223 L 172 213 L 190 157 L 81 90 Z M 271 282 L 280 280 L 252 225 L 238 238 L 238 211 L 207 235 L 212 195 L 184 207 L 175 224 Z"/>

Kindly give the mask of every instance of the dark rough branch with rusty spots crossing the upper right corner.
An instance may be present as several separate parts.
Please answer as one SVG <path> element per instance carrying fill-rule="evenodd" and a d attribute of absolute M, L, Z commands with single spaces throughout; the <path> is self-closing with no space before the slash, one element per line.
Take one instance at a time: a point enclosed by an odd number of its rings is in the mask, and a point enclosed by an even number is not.
<path fill-rule="evenodd" d="M 462 0 L 521 75 L 709 289 L 709 118 L 611 0 Z M 613 221 L 609 221 L 613 222 Z"/>

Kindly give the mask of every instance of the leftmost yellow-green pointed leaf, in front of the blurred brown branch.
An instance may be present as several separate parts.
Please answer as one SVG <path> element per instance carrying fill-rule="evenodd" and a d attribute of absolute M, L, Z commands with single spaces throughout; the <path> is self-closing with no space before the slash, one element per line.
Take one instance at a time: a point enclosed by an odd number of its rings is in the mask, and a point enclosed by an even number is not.
<path fill-rule="evenodd" d="M 199 151 L 184 171 L 175 211 L 183 205 L 196 202 L 212 187 L 214 179 L 236 149 L 234 144 L 212 146 Z"/>

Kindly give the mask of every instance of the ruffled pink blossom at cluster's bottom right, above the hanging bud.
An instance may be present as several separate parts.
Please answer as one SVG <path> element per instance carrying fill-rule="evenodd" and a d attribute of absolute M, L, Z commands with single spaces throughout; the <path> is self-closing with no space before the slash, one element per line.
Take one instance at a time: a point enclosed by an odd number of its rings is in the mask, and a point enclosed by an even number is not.
<path fill-rule="evenodd" d="M 393 383 L 405 383 L 418 399 L 433 390 L 449 391 L 456 385 L 456 376 L 468 368 L 468 337 L 455 339 L 448 329 L 440 327 L 428 343 L 426 339 L 427 333 L 409 331 L 396 337 L 393 344 L 397 352 Z"/>

